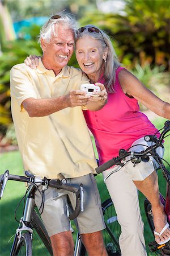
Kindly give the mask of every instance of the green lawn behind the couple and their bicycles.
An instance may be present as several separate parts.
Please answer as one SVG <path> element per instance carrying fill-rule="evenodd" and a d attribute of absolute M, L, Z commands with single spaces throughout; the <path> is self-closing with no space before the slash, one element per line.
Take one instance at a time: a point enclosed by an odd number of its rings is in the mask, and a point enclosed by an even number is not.
<path fill-rule="evenodd" d="M 158 129 L 163 127 L 165 119 L 158 118 L 154 121 L 154 124 Z M 169 138 L 165 140 L 165 159 L 170 162 L 170 154 L 169 154 Z M 96 151 L 96 148 L 95 148 Z M 96 153 L 97 155 L 97 153 Z M 5 170 L 9 170 L 10 174 L 18 174 L 23 175 L 23 166 L 22 160 L 20 158 L 20 154 L 18 151 L 8 152 L 0 155 L 0 174 L 3 174 Z M 96 176 L 97 184 L 100 191 L 101 201 L 104 201 L 108 197 L 108 191 L 105 188 L 105 184 L 103 183 L 102 175 Z M 159 173 L 159 184 L 160 184 L 160 191 L 165 195 L 165 181 L 161 173 Z M 0 202 L 0 255 L 1 256 L 8 256 L 10 252 L 10 247 L 12 240 L 7 243 L 10 238 L 14 235 L 16 228 L 18 228 L 18 223 L 14 219 L 14 212 L 15 208 L 19 203 L 19 200 L 24 195 L 25 191 L 25 184 L 20 182 L 8 181 L 7 186 L 5 188 L 5 192 L 3 198 Z M 143 209 L 143 200 L 145 197 L 139 193 L 139 201 L 141 205 L 141 213 L 143 217 L 143 221 L 145 222 L 145 239 L 146 244 L 152 240 L 154 237 L 150 232 L 150 228 L 148 227 L 147 220 L 145 217 L 144 209 Z M 22 209 L 19 208 L 18 210 L 18 218 L 22 214 Z M 75 226 L 73 225 L 73 228 Z M 75 236 L 74 236 L 75 239 Z M 41 246 L 36 241 L 33 242 L 36 244 L 35 253 L 33 256 L 36 255 L 46 255 L 44 251 L 42 251 Z M 148 247 L 147 247 L 148 250 Z M 152 256 L 153 254 L 148 253 L 148 255 Z"/>

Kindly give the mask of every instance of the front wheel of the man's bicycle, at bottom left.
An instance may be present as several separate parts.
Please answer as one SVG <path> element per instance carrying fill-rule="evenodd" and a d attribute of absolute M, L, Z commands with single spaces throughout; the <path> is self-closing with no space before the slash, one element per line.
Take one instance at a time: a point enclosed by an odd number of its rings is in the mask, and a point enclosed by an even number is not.
<path fill-rule="evenodd" d="M 15 256 L 32 256 L 31 234 L 23 233 L 20 239 L 16 240 L 16 249 L 12 253 Z"/>

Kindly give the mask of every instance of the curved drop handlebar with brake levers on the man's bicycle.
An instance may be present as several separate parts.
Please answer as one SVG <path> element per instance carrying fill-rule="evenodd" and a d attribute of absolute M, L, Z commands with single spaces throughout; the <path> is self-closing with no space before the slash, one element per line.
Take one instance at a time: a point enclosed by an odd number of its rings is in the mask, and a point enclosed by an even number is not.
<path fill-rule="evenodd" d="M 47 182 L 49 187 L 53 187 L 53 188 L 57 188 L 57 189 L 64 189 L 66 191 L 70 191 L 75 193 L 76 195 L 76 206 L 75 209 L 73 211 L 73 213 L 70 214 L 69 218 L 70 220 L 73 220 L 74 218 L 76 218 L 78 216 L 78 214 L 81 212 L 83 212 L 83 184 L 79 185 L 79 188 L 73 187 L 71 185 L 66 185 L 66 184 L 62 184 L 62 182 L 60 180 L 39 180 L 39 181 L 35 181 L 35 177 L 31 175 L 31 177 L 25 177 L 25 176 L 20 176 L 20 175 L 11 175 L 9 174 L 9 171 L 5 171 L 5 174 L 0 175 L 0 200 L 3 196 L 3 191 L 5 189 L 7 180 L 15 180 L 15 181 L 21 181 L 21 182 L 27 182 L 27 183 L 32 183 L 32 184 L 36 184 L 39 183 L 41 181 L 41 184 L 43 184 L 44 182 Z"/>

